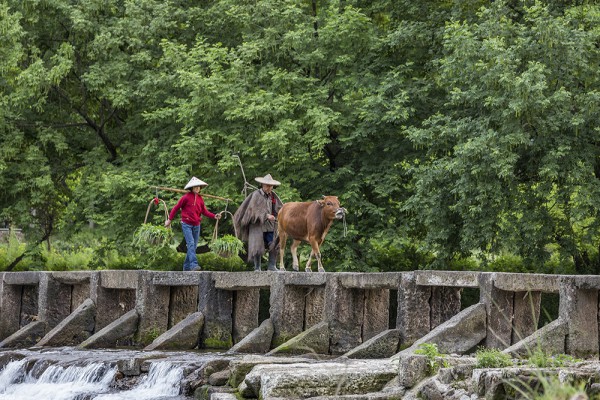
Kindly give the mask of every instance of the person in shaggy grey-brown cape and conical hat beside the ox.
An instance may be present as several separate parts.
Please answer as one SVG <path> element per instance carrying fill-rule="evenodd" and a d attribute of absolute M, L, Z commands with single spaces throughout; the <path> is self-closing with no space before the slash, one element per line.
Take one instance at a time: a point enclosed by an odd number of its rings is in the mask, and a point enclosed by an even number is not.
<path fill-rule="evenodd" d="M 254 178 L 261 188 L 252 192 L 242 202 L 233 215 L 233 223 L 240 240 L 248 243 L 248 262 L 254 263 L 254 270 L 260 271 L 262 256 L 269 252 L 269 271 L 277 271 L 277 246 L 275 228 L 277 213 L 283 207 L 273 188 L 281 185 L 271 174 Z"/>

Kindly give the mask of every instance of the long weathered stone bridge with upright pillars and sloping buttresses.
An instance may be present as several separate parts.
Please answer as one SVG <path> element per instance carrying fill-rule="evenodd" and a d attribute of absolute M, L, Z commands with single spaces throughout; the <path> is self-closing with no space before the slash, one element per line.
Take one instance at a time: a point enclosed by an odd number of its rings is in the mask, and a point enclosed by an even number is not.
<path fill-rule="evenodd" d="M 0 348 L 393 357 L 420 343 L 598 354 L 600 276 L 413 271 L 0 273 Z M 470 293 L 471 304 L 465 303 Z M 558 312 L 539 327 L 542 296 Z"/>

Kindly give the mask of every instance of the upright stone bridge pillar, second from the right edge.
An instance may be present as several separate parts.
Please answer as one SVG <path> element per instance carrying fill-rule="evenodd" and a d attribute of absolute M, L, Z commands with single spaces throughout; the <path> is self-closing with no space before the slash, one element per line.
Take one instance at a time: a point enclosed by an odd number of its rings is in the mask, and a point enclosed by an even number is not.
<path fill-rule="evenodd" d="M 485 346 L 505 349 L 512 341 L 514 292 L 494 286 L 496 274 L 482 273 L 480 279 L 480 302 L 486 305 L 487 336 Z"/>

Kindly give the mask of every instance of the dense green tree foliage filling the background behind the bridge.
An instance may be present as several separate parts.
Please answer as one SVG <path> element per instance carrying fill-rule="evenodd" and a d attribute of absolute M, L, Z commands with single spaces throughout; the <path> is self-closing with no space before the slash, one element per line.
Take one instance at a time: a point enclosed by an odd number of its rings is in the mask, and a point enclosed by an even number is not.
<path fill-rule="evenodd" d="M 595 2 L 7 0 L 0 40 L 5 270 L 135 264 L 149 186 L 233 211 L 242 160 L 339 196 L 328 270 L 600 272 Z"/>

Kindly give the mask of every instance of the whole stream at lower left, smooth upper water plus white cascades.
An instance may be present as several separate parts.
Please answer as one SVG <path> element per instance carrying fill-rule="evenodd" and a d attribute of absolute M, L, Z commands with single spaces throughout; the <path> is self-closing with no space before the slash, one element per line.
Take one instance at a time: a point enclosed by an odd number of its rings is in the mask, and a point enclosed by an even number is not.
<path fill-rule="evenodd" d="M 182 394 L 184 371 L 215 357 L 72 348 L 0 351 L 0 400 L 190 399 Z M 124 377 L 119 365 L 135 365 L 136 360 L 138 366 L 140 360 L 149 365 L 147 373 L 130 378 L 127 385 L 116 384 Z"/>

